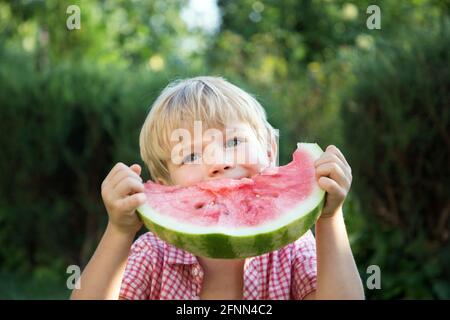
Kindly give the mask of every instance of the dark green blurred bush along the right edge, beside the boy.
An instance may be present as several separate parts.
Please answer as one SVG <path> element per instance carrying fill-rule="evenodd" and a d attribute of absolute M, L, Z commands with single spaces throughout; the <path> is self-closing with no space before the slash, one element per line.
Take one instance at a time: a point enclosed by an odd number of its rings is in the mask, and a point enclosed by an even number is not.
<path fill-rule="evenodd" d="M 369 296 L 448 299 L 450 23 L 400 35 L 357 55 L 343 103 L 368 219 L 356 255 L 381 268 L 384 286 Z"/>

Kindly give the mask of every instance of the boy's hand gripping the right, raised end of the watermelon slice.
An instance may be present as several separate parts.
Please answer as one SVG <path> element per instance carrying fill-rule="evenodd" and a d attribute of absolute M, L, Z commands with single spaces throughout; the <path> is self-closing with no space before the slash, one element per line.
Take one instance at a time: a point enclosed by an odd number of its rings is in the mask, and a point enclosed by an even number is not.
<path fill-rule="evenodd" d="M 352 183 L 352 170 L 342 152 L 335 146 L 328 146 L 314 165 L 319 186 L 327 192 L 320 217 L 328 218 L 342 210 Z"/>

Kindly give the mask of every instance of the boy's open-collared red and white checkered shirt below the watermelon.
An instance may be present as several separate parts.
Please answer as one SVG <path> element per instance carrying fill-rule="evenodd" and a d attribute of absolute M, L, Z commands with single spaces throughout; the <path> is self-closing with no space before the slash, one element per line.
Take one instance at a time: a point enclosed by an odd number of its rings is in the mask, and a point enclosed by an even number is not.
<path fill-rule="evenodd" d="M 316 289 L 316 242 L 311 231 L 287 246 L 247 258 L 244 300 L 301 300 Z M 197 300 L 203 270 L 197 258 L 147 232 L 131 247 L 120 297 Z"/>

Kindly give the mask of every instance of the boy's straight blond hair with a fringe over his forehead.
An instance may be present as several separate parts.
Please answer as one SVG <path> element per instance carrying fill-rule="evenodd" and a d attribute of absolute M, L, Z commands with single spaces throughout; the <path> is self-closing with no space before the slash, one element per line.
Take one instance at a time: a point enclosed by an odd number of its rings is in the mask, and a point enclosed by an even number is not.
<path fill-rule="evenodd" d="M 259 102 L 224 78 L 173 81 L 153 103 L 139 137 L 141 157 L 153 181 L 171 181 L 167 167 L 171 132 L 189 124 L 191 127 L 196 120 L 209 128 L 225 128 L 233 120 L 246 122 L 263 144 L 278 136 Z"/>

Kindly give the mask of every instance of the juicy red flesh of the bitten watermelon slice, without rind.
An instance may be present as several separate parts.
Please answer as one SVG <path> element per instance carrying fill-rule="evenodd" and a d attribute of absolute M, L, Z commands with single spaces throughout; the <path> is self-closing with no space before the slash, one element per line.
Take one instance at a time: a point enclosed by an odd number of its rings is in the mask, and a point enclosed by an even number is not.
<path fill-rule="evenodd" d="M 307 198 L 315 179 L 314 160 L 297 149 L 288 165 L 250 178 L 219 179 L 189 187 L 145 183 L 147 204 L 180 223 L 229 228 L 264 224 Z"/>

